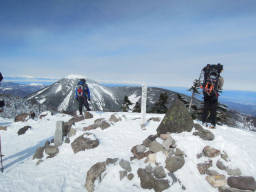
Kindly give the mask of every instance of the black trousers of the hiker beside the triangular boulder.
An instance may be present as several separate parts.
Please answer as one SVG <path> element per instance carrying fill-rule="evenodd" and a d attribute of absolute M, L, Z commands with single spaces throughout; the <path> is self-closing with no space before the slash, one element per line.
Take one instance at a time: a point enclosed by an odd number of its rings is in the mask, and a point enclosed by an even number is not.
<path fill-rule="evenodd" d="M 216 96 L 204 96 L 204 111 L 203 123 L 208 122 L 216 125 L 216 110 L 218 105 L 218 98 Z"/>

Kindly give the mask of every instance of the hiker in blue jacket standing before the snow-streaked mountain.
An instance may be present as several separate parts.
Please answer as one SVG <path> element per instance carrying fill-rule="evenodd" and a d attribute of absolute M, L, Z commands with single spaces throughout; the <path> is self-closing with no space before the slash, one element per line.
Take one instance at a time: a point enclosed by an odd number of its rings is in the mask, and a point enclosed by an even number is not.
<path fill-rule="evenodd" d="M 83 106 L 86 107 L 87 111 L 90 111 L 89 103 L 88 101 L 91 100 L 90 98 L 90 90 L 88 88 L 88 85 L 86 84 L 85 79 L 80 79 L 77 87 L 76 87 L 76 95 L 75 98 L 78 101 L 79 104 L 79 113 L 82 115 Z"/>

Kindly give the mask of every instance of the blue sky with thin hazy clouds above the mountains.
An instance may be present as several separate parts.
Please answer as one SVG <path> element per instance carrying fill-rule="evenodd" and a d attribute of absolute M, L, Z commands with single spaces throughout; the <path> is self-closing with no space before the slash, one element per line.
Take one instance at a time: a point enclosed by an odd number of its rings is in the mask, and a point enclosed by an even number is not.
<path fill-rule="evenodd" d="M 0 71 L 188 87 L 221 62 L 256 91 L 255 23 L 255 0 L 0 0 Z"/>

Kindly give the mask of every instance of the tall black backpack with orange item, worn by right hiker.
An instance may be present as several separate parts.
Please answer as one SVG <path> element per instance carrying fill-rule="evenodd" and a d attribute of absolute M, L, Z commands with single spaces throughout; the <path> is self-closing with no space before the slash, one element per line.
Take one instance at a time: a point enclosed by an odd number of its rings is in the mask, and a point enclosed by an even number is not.
<path fill-rule="evenodd" d="M 220 73 L 223 69 L 221 64 L 208 64 L 204 69 L 203 92 L 208 96 L 218 96 Z"/>

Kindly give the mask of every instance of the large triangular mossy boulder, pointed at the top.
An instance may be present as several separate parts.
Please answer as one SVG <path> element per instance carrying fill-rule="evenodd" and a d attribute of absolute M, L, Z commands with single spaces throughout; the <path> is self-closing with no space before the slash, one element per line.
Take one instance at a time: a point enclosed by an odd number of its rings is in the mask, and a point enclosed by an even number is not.
<path fill-rule="evenodd" d="M 193 125 L 193 119 L 186 106 L 179 99 L 176 99 L 157 128 L 157 134 L 191 131 Z"/>

